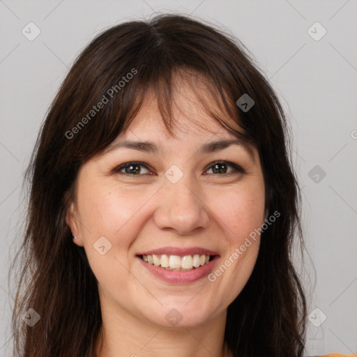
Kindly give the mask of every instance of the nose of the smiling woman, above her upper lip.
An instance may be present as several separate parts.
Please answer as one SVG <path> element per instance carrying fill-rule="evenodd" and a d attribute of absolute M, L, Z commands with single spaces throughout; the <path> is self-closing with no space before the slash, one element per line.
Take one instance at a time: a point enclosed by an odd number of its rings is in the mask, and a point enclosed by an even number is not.
<path fill-rule="evenodd" d="M 158 194 L 158 208 L 153 220 L 159 229 L 188 235 L 195 229 L 208 227 L 209 209 L 204 203 L 202 190 L 188 175 L 183 175 L 177 183 L 165 179 Z"/>

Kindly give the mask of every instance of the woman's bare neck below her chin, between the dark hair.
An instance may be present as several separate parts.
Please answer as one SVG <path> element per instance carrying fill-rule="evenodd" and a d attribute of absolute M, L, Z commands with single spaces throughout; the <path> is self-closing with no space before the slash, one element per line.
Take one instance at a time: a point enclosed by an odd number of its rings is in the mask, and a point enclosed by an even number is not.
<path fill-rule="evenodd" d="M 97 342 L 96 356 L 231 357 L 224 341 L 226 313 L 202 326 L 167 328 L 133 317 L 114 301 L 106 301 L 102 305 L 103 340 Z"/>

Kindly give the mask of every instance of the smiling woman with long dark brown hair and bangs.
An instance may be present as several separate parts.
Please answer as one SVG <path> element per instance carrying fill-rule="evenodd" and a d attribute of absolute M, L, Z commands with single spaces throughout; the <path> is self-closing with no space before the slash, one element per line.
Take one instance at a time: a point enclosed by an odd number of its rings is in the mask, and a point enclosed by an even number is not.
<path fill-rule="evenodd" d="M 286 132 L 227 34 L 176 15 L 101 33 L 26 172 L 14 353 L 303 356 Z"/>

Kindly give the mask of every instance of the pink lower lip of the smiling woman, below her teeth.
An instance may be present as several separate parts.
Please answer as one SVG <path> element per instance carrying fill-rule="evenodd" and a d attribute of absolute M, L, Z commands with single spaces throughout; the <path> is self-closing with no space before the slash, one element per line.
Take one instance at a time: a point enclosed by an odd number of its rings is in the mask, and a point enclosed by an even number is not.
<path fill-rule="evenodd" d="M 191 282 L 197 282 L 197 280 L 200 280 L 211 273 L 218 256 L 216 255 L 208 264 L 204 264 L 203 266 L 199 266 L 199 268 L 195 268 L 190 271 L 168 271 L 160 266 L 146 263 L 146 261 L 142 260 L 140 257 L 137 257 L 137 259 L 142 262 L 144 267 L 148 269 L 150 273 L 165 282 L 172 282 L 174 284 L 189 284 Z"/>

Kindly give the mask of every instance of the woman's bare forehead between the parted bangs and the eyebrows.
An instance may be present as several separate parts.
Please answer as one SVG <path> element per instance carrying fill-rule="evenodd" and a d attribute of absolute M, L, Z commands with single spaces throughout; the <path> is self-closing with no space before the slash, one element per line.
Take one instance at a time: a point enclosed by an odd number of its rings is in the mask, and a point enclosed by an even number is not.
<path fill-rule="evenodd" d="M 139 111 L 128 126 L 128 131 L 153 135 L 160 132 L 160 135 L 165 135 L 167 138 L 172 137 L 173 134 L 174 137 L 182 139 L 190 135 L 211 136 L 220 132 L 221 135 L 234 139 L 236 135 L 215 121 L 213 116 L 229 123 L 229 126 L 239 132 L 243 132 L 243 129 L 229 116 L 227 109 L 219 100 L 219 93 L 208 91 L 209 85 L 207 79 L 196 74 L 179 73 L 174 75 L 169 98 L 171 114 L 164 114 L 165 117 L 162 116 L 160 106 L 165 106 L 167 109 L 167 102 L 165 102 L 167 98 L 163 99 L 158 96 L 157 92 L 148 89 Z M 166 130 L 165 121 L 169 123 L 172 132 Z"/>

